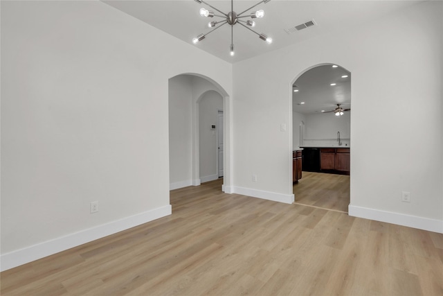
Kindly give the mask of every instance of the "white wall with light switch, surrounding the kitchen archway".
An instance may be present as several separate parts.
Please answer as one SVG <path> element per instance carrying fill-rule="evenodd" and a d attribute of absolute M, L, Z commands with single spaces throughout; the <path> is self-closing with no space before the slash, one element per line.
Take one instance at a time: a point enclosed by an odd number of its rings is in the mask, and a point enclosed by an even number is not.
<path fill-rule="evenodd" d="M 350 214 L 443 232 L 442 5 L 235 64 L 234 191 L 292 192 L 292 133 L 279 129 L 291 122 L 291 84 L 314 65 L 338 64 L 352 72 Z"/>

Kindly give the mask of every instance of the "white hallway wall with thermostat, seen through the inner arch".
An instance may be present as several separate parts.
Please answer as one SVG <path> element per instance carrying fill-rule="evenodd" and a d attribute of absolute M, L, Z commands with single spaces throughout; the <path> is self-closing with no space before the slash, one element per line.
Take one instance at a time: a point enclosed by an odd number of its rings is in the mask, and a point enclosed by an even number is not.
<path fill-rule="evenodd" d="M 223 98 L 214 91 L 206 92 L 199 101 L 199 139 L 200 139 L 200 180 L 208 182 L 218 179 L 217 171 L 217 130 L 218 111 L 223 111 Z M 215 130 L 210 129 L 215 125 Z"/>

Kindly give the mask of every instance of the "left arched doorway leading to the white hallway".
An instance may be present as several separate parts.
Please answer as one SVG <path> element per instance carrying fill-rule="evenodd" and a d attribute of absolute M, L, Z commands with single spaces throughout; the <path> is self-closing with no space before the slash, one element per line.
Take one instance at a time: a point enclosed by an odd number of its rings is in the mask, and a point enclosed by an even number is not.
<path fill-rule="evenodd" d="M 215 81 L 195 73 L 183 73 L 168 81 L 170 190 L 201 184 L 199 102 L 208 94 L 221 97 L 221 109 L 227 120 L 224 130 L 224 183 L 230 193 L 230 102 L 226 91 Z M 214 124 L 215 125 L 215 124 Z M 210 126 L 208 126 L 210 129 Z"/>

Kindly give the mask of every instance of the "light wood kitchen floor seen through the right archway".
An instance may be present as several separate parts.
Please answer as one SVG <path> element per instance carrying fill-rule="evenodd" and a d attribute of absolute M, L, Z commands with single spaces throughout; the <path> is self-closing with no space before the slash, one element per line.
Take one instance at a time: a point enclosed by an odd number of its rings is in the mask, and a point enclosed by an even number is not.
<path fill-rule="evenodd" d="M 302 172 L 298 184 L 293 184 L 297 204 L 333 209 L 347 213 L 350 204 L 350 176 Z"/>

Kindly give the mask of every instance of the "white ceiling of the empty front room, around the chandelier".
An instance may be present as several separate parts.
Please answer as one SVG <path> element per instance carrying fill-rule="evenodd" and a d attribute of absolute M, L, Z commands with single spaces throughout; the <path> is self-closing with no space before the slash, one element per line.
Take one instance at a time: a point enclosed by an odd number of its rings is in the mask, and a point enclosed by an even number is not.
<path fill-rule="evenodd" d="M 230 11 L 230 0 L 205 1 L 223 12 Z M 201 7 L 208 8 L 208 6 L 199 4 L 194 0 L 113 0 L 103 2 L 189 44 L 192 44 L 193 37 L 210 31 L 207 27 L 208 21 L 220 19 L 217 17 L 213 19 L 200 17 L 199 9 Z M 257 2 L 255 0 L 234 1 L 234 11 L 242 12 Z M 272 44 L 266 44 L 257 35 L 236 24 L 233 27 L 235 56 L 231 57 L 229 55 L 230 26 L 226 24 L 210 33 L 206 39 L 196 45 L 192 44 L 192 46 L 197 46 L 199 49 L 227 62 L 239 62 L 318 35 L 344 32 L 359 24 L 374 21 L 388 12 L 417 2 L 419 1 L 273 0 L 266 4 L 261 3 L 251 10 L 264 10 L 264 18 L 255 19 L 257 25 L 253 29 L 257 33 L 264 33 L 272 37 Z M 284 29 L 297 26 L 311 19 L 316 21 L 316 26 L 291 34 L 284 31 Z M 149 38 L 149 36 L 146 36 L 146 38 Z"/>

